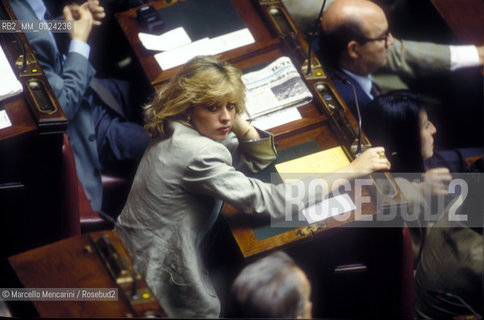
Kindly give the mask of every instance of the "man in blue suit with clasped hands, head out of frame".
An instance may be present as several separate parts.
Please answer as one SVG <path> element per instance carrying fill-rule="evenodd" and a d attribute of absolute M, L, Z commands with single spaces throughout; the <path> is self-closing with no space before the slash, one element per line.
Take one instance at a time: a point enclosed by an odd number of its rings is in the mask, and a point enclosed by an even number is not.
<path fill-rule="evenodd" d="M 20 20 L 43 20 L 47 8 L 41 0 L 12 0 Z M 63 8 L 66 20 L 74 21 L 69 49 L 50 32 L 26 33 L 64 113 L 76 161 L 77 175 L 93 210 L 102 204 L 101 172 L 114 163 L 137 161 L 149 138 L 143 127 L 127 121 L 128 99 L 122 82 L 94 78 L 87 40 L 92 28 L 105 17 L 99 1 Z M 57 35 L 56 35 L 57 36 Z"/>

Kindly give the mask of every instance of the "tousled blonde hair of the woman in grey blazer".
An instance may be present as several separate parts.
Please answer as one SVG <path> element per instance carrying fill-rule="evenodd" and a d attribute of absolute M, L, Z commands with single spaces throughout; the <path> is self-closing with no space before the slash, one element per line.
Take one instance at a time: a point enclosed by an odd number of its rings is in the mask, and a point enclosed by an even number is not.
<path fill-rule="evenodd" d="M 165 135 L 166 120 L 184 122 L 195 104 L 212 106 L 235 99 L 237 113 L 245 111 L 245 85 L 239 69 L 212 56 L 188 61 L 144 107 L 145 130 L 151 138 Z"/>

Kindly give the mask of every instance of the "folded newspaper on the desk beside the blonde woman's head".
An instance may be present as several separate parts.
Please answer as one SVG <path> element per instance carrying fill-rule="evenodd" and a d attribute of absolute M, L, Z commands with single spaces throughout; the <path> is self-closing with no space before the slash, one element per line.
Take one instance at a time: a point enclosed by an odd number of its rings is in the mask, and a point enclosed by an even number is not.
<path fill-rule="evenodd" d="M 250 119 L 300 106 L 313 98 L 289 57 L 280 57 L 261 70 L 244 74 L 242 81 Z"/>

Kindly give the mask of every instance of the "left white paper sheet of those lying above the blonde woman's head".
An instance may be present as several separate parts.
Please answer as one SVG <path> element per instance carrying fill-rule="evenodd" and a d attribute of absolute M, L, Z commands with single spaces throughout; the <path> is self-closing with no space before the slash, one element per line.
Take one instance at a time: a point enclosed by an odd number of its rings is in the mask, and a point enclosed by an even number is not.
<path fill-rule="evenodd" d="M 183 27 L 178 27 L 161 35 L 140 32 L 138 38 L 148 50 L 168 51 L 192 42 Z"/>

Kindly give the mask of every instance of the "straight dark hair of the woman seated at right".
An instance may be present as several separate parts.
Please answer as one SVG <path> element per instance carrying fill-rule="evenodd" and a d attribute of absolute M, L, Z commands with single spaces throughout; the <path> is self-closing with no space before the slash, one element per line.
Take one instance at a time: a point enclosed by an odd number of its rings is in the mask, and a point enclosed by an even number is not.
<path fill-rule="evenodd" d="M 432 109 L 437 100 L 409 92 L 392 91 L 366 107 L 363 130 L 373 146 L 385 147 L 393 172 L 423 172 L 419 127 L 420 111 Z"/>

